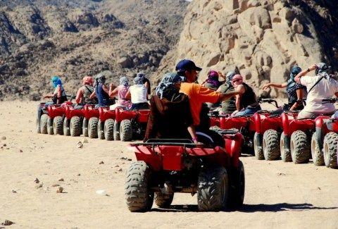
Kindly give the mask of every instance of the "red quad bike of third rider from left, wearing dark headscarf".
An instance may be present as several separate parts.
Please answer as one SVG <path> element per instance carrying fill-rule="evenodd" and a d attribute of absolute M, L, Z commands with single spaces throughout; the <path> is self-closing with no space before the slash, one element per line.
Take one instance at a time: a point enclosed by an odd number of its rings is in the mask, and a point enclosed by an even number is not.
<path fill-rule="evenodd" d="M 87 105 L 83 108 L 82 133 L 84 137 L 96 138 L 99 123 L 99 109 L 95 105 Z"/>

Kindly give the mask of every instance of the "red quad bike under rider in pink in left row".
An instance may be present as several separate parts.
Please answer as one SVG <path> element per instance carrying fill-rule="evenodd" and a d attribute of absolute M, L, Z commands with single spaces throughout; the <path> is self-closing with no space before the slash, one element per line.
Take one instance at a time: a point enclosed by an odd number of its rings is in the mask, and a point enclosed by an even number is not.
<path fill-rule="evenodd" d="M 114 135 L 115 128 L 115 110 L 109 110 L 109 107 L 99 108 L 99 124 L 98 135 L 99 139 L 120 140 L 120 135 Z"/>

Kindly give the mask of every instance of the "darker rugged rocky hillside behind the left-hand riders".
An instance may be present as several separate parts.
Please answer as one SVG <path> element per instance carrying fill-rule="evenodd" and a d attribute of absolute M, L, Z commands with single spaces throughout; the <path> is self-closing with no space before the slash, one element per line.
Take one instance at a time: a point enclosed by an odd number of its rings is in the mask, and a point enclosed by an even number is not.
<path fill-rule="evenodd" d="M 61 75 L 68 94 L 85 75 L 154 72 L 173 49 L 184 0 L 1 0 L 0 99 L 40 99 Z"/>

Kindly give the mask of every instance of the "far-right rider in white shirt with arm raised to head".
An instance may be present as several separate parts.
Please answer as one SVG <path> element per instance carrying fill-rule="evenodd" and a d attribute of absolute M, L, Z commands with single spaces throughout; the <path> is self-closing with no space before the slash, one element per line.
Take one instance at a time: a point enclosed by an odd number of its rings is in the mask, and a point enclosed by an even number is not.
<path fill-rule="evenodd" d="M 312 70 L 315 70 L 315 76 L 306 75 Z M 331 99 L 334 95 L 338 97 L 338 82 L 329 73 L 330 67 L 326 63 L 318 63 L 296 75 L 294 81 L 308 89 L 306 106 L 299 112 L 297 118 L 315 118 L 321 114 L 334 113 L 336 110 L 334 104 L 323 103 L 323 99 Z"/>

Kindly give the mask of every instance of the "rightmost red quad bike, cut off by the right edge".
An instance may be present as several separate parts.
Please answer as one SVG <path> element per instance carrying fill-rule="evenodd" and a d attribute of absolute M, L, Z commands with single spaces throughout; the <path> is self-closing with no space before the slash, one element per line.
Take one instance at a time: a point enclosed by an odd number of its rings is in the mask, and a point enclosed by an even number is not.
<path fill-rule="evenodd" d="M 337 99 L 323 99 L 335 103 Z M 315 132 L 311 139 L 311 155 L 315 166 L 338 168 L 337 165 L 338 120 L 331 116 L 315 119 Z"/>

